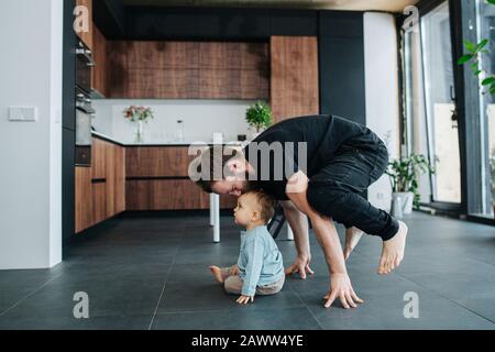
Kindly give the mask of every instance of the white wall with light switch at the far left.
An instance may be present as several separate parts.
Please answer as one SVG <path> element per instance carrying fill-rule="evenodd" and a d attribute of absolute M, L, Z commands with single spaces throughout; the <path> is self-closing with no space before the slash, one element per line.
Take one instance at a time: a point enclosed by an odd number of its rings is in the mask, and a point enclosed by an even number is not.
<path fill-rule="evenodd" d="M 63 0 L 0 1 L 0 270 L 62 261 L 62 40 Z"/>

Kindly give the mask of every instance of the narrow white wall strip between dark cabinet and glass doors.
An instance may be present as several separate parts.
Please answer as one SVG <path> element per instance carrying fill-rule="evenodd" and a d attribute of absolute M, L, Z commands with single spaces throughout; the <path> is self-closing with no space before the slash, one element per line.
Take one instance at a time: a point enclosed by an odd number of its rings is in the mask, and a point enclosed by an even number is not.
<path fill-rule="evenodd" d="M 399 107 L 397 37 L 394 18 L 387 13 L 364 13 L 364 66 L 366 125 L 387 142 L 392 158 L 399 156 Z M 389 210 L 392 189 L 384 175 L 369 188 L 369 199 Z"/>

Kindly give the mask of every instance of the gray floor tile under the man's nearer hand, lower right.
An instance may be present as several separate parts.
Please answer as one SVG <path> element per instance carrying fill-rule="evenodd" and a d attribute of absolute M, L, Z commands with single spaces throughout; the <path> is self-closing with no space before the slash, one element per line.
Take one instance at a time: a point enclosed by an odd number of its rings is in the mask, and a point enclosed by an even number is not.
<path fill-rule="evenodd" d="M 315 286 L 321 289 L 327 287 L 326 283 L 317 283 Z M 324 329 L 495 328 L 491 321 L 397 275 L 369 280 L 359 277 L 354 280 L 354 289 L 365 300 L 355 309 L 343 309 L 340 301 L 326 309 L 321 295 L 309 289 L 299 296 Z M 405 318 L 404 310 L 409 302 L 405 300 L 407 293 L 417 294 L 418 318 Z"/>

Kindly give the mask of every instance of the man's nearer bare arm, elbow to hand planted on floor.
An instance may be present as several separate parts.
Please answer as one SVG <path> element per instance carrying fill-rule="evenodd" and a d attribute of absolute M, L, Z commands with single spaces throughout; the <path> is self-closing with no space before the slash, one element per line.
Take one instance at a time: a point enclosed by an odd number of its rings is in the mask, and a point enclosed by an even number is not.
<path fill-rule="evenodd" d="M 308 177 L 298 172 L 287 183 L 286 194 L 294 205 L 311 220 L 318 242 L 323 249 L 330 272 L 331 287 L 324 296 L 326 307 L 330 307 L 339 297 L 344 308 L 356 307 L 355 301 L 362 302 L 352 286 L 345 268 L 345 261 L 333 221 L 314 211 L 307 199 Z"/>

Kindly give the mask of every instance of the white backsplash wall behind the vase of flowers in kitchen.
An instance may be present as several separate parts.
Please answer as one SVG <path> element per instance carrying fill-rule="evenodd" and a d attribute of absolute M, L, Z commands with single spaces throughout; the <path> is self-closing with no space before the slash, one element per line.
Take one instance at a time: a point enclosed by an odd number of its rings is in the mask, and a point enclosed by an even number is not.
<path fill-rule="evenodd" d="M 244 120 L 254 101 L 246 100 L 94 100 L 97 111 L 92 125 L 98 132 L 123 143 L 133 143 L 135 127 L 123 118 L 131 105 L 152 108 L 155 119 L 144 128 L 144 143 L 173 142 L 177 120 L 184 120 L 185 141 L 210 142 L 213 132 L 221 132 L 224 141 L 235 141 L 238 134 L 251 134 Z"/>

